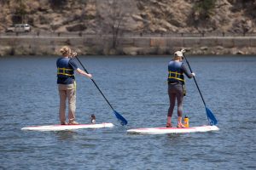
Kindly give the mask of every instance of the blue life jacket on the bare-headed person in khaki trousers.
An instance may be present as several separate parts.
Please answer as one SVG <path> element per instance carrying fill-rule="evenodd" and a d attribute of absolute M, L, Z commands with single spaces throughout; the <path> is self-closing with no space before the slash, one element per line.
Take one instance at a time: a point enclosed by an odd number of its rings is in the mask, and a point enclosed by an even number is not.
<path fill-rule="evenodd" d="M 70 84 L 73 83 L 74 80 L 74 70 L 72 65 L 69 64 L 69 60 L 67 58 L 60 58 L 57 60 L 57 77 L 58 83 Z"/>

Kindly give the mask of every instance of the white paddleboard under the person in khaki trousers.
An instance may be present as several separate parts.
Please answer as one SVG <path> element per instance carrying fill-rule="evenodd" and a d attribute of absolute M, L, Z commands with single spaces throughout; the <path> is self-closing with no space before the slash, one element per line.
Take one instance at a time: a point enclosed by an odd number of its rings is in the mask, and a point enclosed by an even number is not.
<path fill-rule="evenodd" d="M 109 122 L 102 122 L 100 124 L 48 125 L 48 126 L 23 127 L 21 128 L 21 130 L 63 131 L 63 130 L 75 130 L 79 128 L 102 128 L 102 127 L 113 127 L 113 124 Z"/>

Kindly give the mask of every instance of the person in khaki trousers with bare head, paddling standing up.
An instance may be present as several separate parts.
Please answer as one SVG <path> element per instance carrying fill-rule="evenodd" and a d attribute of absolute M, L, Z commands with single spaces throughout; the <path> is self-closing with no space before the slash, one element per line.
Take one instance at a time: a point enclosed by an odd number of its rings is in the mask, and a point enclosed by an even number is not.
<path fill-rule="evenodd" d="M 60 110 L 59 116 L 61 125 L 76 125 L 75 110 L 76 110 L 76 82 L 74 72 L 78 72 L 84 77 L 91 78 L 91 74 L 79 69 L 78 65 L 73 60 L 76 53 L 71 53 L 71 48 L 64 46 L 60 49 L 62 57 L 57 59 L 57 84 L 60 95 Z M 66 122 L 66 102 L 68 103 L 68 122 Z"/>

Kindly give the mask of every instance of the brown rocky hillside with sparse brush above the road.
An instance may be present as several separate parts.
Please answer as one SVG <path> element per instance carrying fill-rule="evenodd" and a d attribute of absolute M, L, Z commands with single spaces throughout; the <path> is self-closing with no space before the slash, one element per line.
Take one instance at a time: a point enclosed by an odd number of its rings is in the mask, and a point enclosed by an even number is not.
<path fill-rule="evenodd" d="M 256 32 L 255 0 L 0 0 L 0 31 Z"/>

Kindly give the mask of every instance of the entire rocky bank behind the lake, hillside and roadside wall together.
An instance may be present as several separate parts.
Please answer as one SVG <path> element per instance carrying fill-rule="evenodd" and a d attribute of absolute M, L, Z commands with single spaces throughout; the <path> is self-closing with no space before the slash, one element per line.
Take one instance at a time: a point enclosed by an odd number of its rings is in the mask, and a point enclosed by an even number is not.
<path fill-rule="evenodd" d="M 190 54 L 256 54 L 255 1 L 19 2 L 1 1 L 0 56 L 58 54 L 63 45 L 96 55 L 173 54 L 179 48 Z M 31 26 L 29 35 L 4 35 L 19 23 Z M 70 33 L 77 35 L 61 36 Z M 122 36 L 127 33 L 137 36 Z"/>

